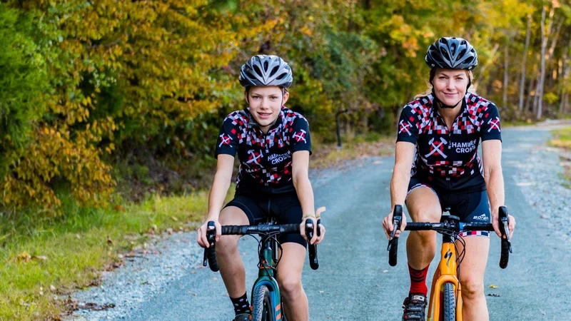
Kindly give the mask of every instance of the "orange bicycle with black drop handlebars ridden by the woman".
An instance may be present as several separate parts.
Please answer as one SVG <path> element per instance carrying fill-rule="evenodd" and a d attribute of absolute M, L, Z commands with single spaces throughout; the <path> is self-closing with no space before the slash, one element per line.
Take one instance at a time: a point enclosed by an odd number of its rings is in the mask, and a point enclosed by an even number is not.
<path fill-rule="evenodd" d="M 398 238 L 396 231 L 400 228 L 403 218 L 403 206 L 395 205 L 393 210 L 393 231 L 390 233 L 387 250 L 389 251 L 388 262 L 390 266 L 397 264 Z M 512 252 L 510 243 L 510 231 L 507 227 L 507 210 L 500 206 L 499 211 L 500 230 L 502 232 L 502 252 L 500 267 L 505 269 Z M 465 246 L 458 253 L 455 241 L 461 244 L 463 238 L 460 230 L 486 230 L 493 231 L 491 223 L 461 223 L 460 218 L 454 215 L 443 215 L 440 223 L 407 223 L 405 230 L 435 230 L 443 235 L 442 249 L 440 250 L 440 263 L 433 275 L 430 287 L 430 300 L 428 301 L 427 321 L 461 321 L 462 320 L 462 295 L 460 289 L 460 263 L 465 255 Z M 504 238 L 505 236 L 505 238 Z"/>

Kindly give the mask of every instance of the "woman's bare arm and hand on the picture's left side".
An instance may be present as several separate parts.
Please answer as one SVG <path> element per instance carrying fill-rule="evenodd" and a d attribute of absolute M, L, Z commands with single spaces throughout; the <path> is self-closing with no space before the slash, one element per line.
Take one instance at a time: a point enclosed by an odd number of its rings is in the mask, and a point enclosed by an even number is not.
<path fill-rule="evenodd" d="M 408 183 L 410 182 L 410 168 L 413 165 L 415 156 L 415 144 L 399 141 L 395 147 L 395 167 L 393 168 L 393 178 L 390 179 L 390 213 L 383 220 L 383 228 L 387 238 L 393 230 L 393 208 L 395 205 L 404 205 Z M 400 231 L 405 230 L 406 218 L 403 215 L 403 223 Z M 396 236 L 400 235 L 397 231 Z"/>

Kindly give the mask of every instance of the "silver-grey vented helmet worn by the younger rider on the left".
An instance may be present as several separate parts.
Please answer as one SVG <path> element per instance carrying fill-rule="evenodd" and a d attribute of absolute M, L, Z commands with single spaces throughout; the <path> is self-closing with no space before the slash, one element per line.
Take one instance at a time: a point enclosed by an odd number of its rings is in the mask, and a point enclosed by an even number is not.
<path fill-rule="evenodd" d="M 242 65 L 240 84 L 249 86 L 279 86 L 289 88 L 293 83 L 291 68 L 282 58 L 272 55 L 253 56 Z"/>

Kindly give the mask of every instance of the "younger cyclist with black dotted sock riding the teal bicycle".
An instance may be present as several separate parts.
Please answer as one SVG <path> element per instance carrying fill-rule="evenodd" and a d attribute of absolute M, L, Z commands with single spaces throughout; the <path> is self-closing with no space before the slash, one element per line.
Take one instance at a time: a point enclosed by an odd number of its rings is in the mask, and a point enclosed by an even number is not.
<path fill-rule="evenodd" d="M 308 320 L 308 300 L 301 285 L 305 260 L 305 220 L 313 220 L 313 190 L 308 178 L 311 140 L 308 121 L 284 105 L 293 76 L 288 63 L 278 56 L 253 56 L 243 64 L 240 83 L 247 108 L 224 119 L 216 143 L 216 174 L 208 200 L 206 223 L 198 228 L 198 244 L 208 247 L 206 225 L 216 223 L 216 259 L 236 321 L 249 320 L 246 275 L 238 253 L 237 235 L 221 237 L 221 225 L 253 225 L 269 215 L 278 224 L 299 223 L 301 233 L 281 235 L 283 255 L 278 265 L 278 284 L 288 320 Z M 230 187 L 234 156 L 240 169 L 236 195 L 224 208 Z M 323 240 L 325 228 L 311 244 Z M 279 271 L 287 272 L 279 272 Z"/>

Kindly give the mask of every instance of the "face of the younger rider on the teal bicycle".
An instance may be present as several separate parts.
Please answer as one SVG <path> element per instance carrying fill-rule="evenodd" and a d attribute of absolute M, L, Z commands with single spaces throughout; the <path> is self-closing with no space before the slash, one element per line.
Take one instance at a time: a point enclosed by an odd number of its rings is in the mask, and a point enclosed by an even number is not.
<path fill-rule="evenodd" d="M 267 133 L 280 116 L 281 106 L 288 101 L 289 93 L 278 86 L 252 87 L 244 93 L 254 120 Z"/>

